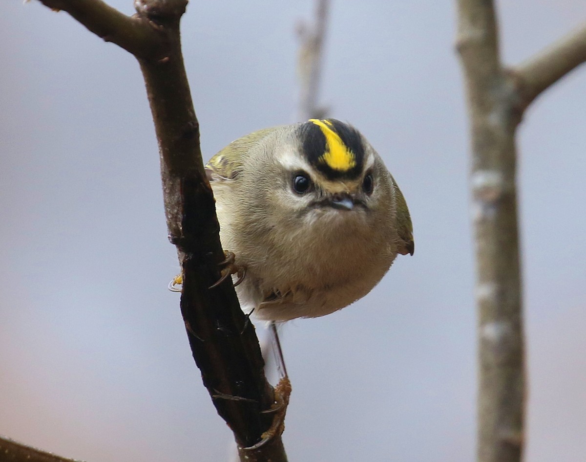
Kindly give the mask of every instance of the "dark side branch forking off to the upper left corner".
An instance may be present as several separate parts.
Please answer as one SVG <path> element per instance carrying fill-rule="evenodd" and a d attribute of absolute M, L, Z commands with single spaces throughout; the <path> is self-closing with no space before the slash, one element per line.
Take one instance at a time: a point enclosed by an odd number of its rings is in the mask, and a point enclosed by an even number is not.
<path fill-rule="evenodd" d="M 144 21 L 144 17 L 126 16 L 101 0 L 39 1 L 54 10 L 66 11 L 98 37 L 119 45 L 137 57 L 152 56 L 161 45 L 158 33 L 152 24 Z"/>

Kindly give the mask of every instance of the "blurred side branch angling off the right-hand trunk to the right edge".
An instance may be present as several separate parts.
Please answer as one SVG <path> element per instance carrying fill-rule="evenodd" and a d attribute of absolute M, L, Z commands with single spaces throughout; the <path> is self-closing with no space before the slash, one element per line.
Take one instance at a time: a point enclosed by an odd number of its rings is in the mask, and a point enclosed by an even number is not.
<path fill-rule="evenodd" d="M 524 109 L 552 84 L 586 62 L 586 25 L 574 30 L 537 55 L 512 68 L 519 80 L 521 108 Z"/>

